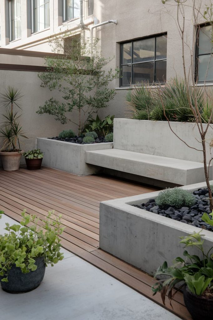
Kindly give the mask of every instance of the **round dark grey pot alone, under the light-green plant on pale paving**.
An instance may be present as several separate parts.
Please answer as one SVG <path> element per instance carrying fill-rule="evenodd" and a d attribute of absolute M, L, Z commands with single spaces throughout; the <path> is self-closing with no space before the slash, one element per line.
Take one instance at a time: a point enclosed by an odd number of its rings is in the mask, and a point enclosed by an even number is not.
<path fill-rule="evenodd" d="M 45 264 L 44 257 L 34 258 L 37 269 L 29 273 L 22 273 L 21 269 L 13 265 L 8 274 L 8 282 L 2 282 L 1 287 L 4 291 L 10 293 L 24 293 L 34 290 L 41 284 L 44 273 Z M 0 280 L 4 276 L 0 276 Z"/>

